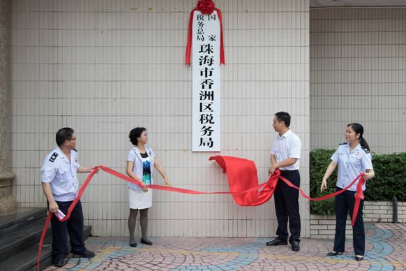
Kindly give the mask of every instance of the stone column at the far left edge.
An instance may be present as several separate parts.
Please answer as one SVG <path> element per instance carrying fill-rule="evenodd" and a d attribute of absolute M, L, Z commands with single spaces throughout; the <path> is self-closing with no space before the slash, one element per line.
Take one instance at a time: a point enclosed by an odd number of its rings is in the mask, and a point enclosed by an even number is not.
<path fill-rule="evenodd" d="M 0 0 L 0 212 L 16 207 L 11 193 L 10 37 L 11 0 Z"/>

